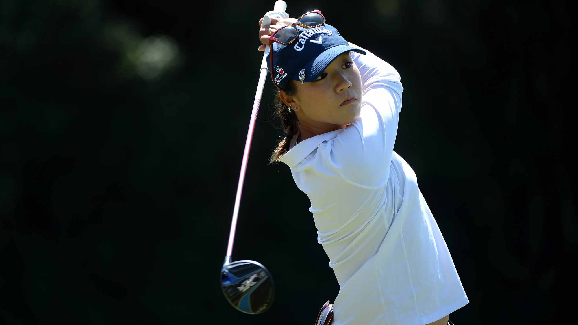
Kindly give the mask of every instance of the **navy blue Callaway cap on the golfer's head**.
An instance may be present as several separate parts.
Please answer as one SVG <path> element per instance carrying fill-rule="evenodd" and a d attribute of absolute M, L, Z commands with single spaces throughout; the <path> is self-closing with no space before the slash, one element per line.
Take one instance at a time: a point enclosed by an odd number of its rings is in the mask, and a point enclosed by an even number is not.
<path fill-rule="evenodd" d="M 287 27 L 290 28 L 290 27 Z M 327 68 L 331 61 L 348 51 L 367 54 L 364 50 L 349 46 L 335 27 L 323 24 L 315 28 L 297 26 L 298 39 L 289 45 L 273 42 L 273 78 L 283 88 L 290 79 L 312 82 Z M 269 52 L 266 60 L 269 67 Z"/>

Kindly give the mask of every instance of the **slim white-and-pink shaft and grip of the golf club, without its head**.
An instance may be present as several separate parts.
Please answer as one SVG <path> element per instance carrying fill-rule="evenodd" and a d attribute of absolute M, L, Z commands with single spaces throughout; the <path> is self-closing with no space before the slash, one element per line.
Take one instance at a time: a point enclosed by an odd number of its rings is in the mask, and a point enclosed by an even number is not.
<path fill-rule="evenodd" d="M 283 10 L 277 10 L 283 9 Z M 275 10 L 283 11 L 287 9 L 287 3 L 283 0 L 277 0 L 275 2 Z M 265 16 L 267 19 L 269 17 Z M 265 21 L 264 17 L 264 21 Z M 269 20 L 269 24 L 271 24 L 271 20 Z M 229 232 L 229 244 L 227 245 L 227 255 L 225 256 L 225 263 L 230 260 L 232 252 L 233 252 L 233 241 L 235 239 L 235 230 L 237 227 L 237 219 L 239 216 L 239 206 L 241 202 L 241 194 L 243 192 L 243 182 L 245 179 L 245 172 L 247 171 L 247 161 L 249 160 L 249 150 L 251 149 L 251 140 L 253 139 L 253 131 L 255 129 L 255 122 L 257 121 L 257 113 L 259 112 L 259 106 L 261 105 L 261 96 L 263 94 L 263 88 L 265 87 L 265 80 L 269 75 L 269 71 L 267 70 L 266 65 L 266 54 L 263 55 L 263 60 L 260 69 L 260 76 L 259 82 L 257 84 L 257 91 L 255 93 L 255 99 L 253 101 L 253 112 L 251 113 L 251 120 L 249 122 L 249 130 L 247 131 L 247 140 L 245 141 L 245 150 L 243 152 L 243 161 L 241 163 L 241 172 L 239 175 L 239 183 L 237 184 L 237 194 L 235 197 L 235 207 L 233 208 L 233 220 L 231 221 L 231 232 Z M 263 64 L 265 64 L 265 68 L 263 68 Z"/>

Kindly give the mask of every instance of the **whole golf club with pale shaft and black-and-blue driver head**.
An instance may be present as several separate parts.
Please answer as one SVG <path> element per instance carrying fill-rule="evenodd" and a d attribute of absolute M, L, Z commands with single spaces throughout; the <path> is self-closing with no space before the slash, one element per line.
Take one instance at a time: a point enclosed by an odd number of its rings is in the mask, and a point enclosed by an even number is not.
<path fill-rule="evenodd" d="M 285 12 L 287 3 L 283 0 L 275 2 L 275 12 Z M 271 19 L 265 15 L 261 23 L 261 27 L 271 25 Z M 237 195 L 235 198 L 235 208 L 233 209 L 233 220 L 231 223 L 231 232 L 229 234 L 229 245 L 227 247 L 227 255 L 223 267 L 221 268 L 220 281 L 221 290 L 227 301 L 239 311 L 249 314 L 258 314 L 265 312 L 273 303 L 275 296 L 275 287 L 273 286 L 273 278 L 269 271 L 261 264 L 251 260 L 241 260 L 231 262 L 231 253 L 233 250 L 233 240 L 235 238 L 235 228 L 237 224 L 237 217 L 239 214 L 239 204 L 241 201 L 241 193 L 243 190 L 243 181 L 245 178 L 245 171 L 247 169 L 247 160 L 249 159 L 249 150 L 251 147 L 251 139 L 253 138 L 253 131 L 255 129 L 255 121 L 257 121 L 257 113 L 259 105 L 261 104 L 261 95 L 265 80 L 269 76 L 267 69 L 266 56 L 269 53 L 269 45 L 266 46 L 263 60 L 261 61 L 261 75 L 259 83 L 257 84 L 257 93 L 253 102 L 253 113 L 251 113 L 251 121 L 249 123 L 249 131 L 247 132 L 247 140 L 245 142 L 245 150 L 243 153 L 243 162 L 241 164 L 241 172 L 239 175 L 239 183 L 237 185 Z"/>

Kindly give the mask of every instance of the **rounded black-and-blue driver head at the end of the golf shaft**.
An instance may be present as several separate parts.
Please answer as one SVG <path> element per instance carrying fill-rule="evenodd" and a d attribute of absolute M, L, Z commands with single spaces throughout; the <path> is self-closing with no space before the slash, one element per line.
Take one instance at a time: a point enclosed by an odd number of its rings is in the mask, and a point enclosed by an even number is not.
<path fill-rule="evenodd" d="M 225 298 L 239 311 L 255 315 L 273 304 L 273 278 L 261 263 L 250 260 L 227 263 L 225 259 L 220 280 Z"/>

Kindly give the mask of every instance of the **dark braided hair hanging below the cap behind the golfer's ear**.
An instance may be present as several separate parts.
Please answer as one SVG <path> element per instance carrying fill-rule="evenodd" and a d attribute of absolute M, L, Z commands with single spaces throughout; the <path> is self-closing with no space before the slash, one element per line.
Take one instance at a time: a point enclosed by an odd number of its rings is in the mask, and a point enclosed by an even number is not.
<path fill-rule="evenodd" d="M 297 94 L 297 86 L 295 86 L 294 80 L 289 80 L 288 83 L 282 88 L 283 91 L 288 96 L 294 96 Z M 275 103 L 273 104 L 273 115 L 277 116 L 281 120 L 281 125 L 283 126 L 283 132 L 285 134 L 284 138 L 277 144 L 275 150 L 269 157 L 269 164 L 273 162 L 279 162 L 279 158 L 289 151 L 289 146 L 291 145 L 291 139 L 297 131 L 299 130 L 299 120 L 295 111 L 281 100 L 279 94 L 281 90 L 276 89 L 275 91 Z"/>

